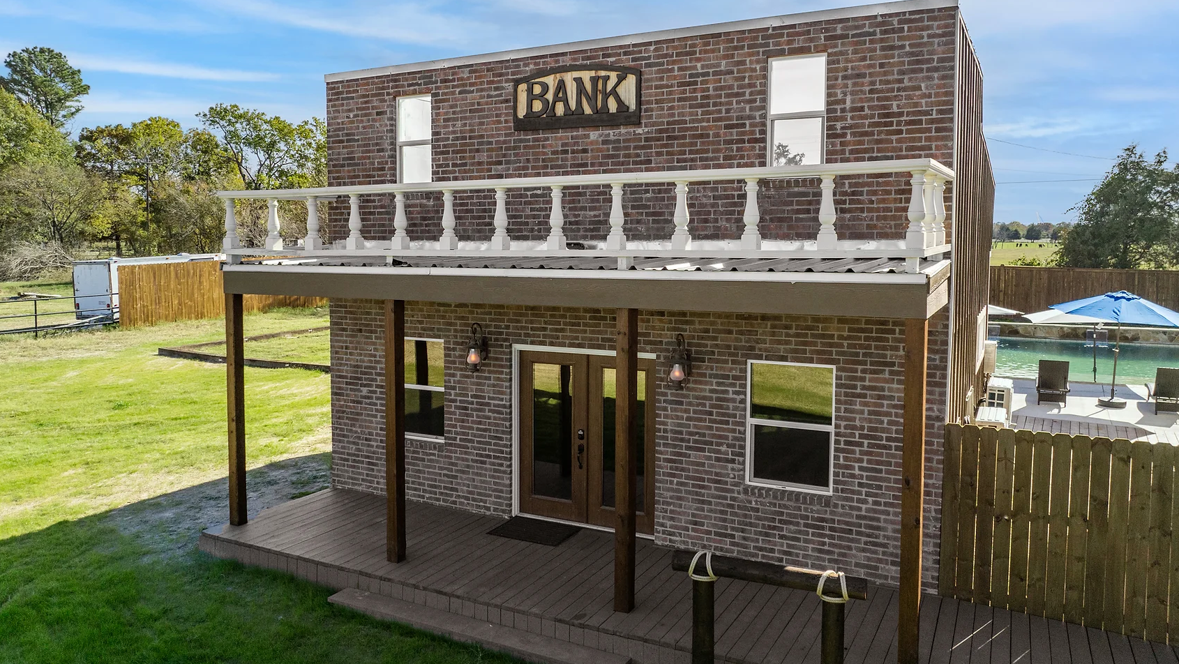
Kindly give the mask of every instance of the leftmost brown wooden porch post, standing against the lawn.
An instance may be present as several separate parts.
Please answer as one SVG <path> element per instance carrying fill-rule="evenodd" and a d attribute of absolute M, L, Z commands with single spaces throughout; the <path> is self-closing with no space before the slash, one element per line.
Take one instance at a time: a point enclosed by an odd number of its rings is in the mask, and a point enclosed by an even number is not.
<path fill-rule="evenodd" d="M 245 336 L 242 294 L 225 294 L 225 420 L 229 423 L 229 522 L 245 515 Z"/>

